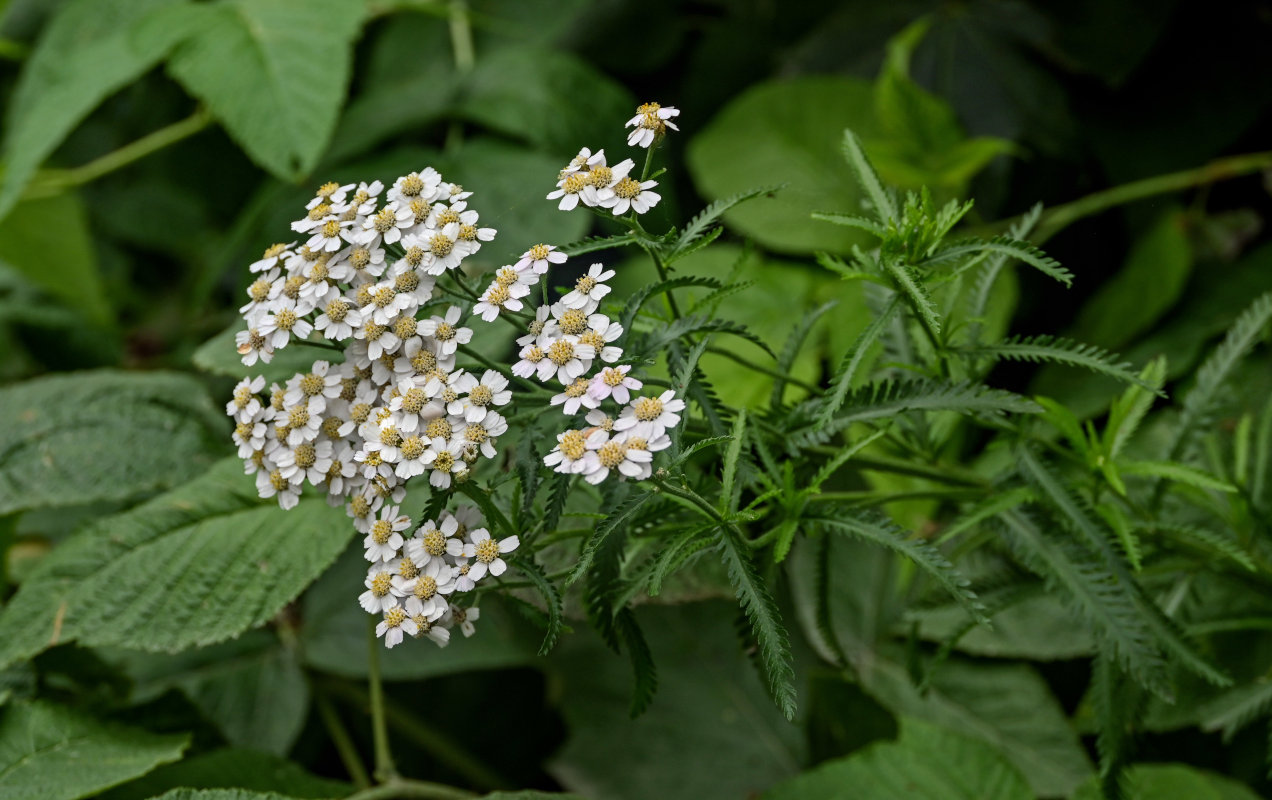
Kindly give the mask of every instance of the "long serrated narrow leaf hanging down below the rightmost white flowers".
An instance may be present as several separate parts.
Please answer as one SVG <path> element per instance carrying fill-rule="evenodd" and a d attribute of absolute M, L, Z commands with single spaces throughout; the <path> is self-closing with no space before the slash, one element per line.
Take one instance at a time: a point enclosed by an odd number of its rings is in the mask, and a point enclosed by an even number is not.
<path fill-rule="evenodd" d="M 750 622 L 750 632 L 758 645 L 768 691 L 782 715 L 787 720 L 794 720 L 795 669 L 791 661 L 790 638 L 782 626 L 777 603 L 756 571 L 750 552 L 740 535 L 726 525 L 720 528 L 716 541 L 738 604 Z"/>

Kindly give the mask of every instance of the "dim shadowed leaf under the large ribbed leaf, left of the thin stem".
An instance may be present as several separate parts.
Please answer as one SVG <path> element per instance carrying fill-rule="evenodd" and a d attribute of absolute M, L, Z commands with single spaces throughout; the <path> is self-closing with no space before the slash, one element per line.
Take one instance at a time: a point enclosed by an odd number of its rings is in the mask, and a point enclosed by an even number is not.
<path fill-rule="evenodd" d="M 295 651 L 265 631 L 177 655 L 104 655 L 132 679 L 135 703 L 181 689 L 234 747 L 286 755 L 309 712 Z"/>

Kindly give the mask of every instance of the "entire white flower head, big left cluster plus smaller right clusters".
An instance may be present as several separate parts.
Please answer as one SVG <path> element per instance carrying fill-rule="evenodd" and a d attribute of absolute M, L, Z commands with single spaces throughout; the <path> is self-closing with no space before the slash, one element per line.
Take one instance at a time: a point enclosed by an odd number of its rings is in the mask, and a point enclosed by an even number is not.
<path fill-rule="evenodd" d="M 641 106 L 628 144 L 653 154 L 678 113 Z M 637 215 L 659 201 L 650 167 L 646 158 L 637 181 L 632 159 L 611 167 L 603 150 L 584 148 L 547 197 L 640 228 Z M 504 556 L 522 533 L 492 535 L 495 520 L 478 507 L 446 506 L 460 488 L 499 516 L 473 481 L 506 473 L 499 440 L 510 426 L 560 407 L 563 430 L 543 464 L 590 485 L 642 481 L 655 454 L 673 446 L 684 411 L 667 382 L 646 389 L 650 379 L 625 362 L 613 270 L 593 263 L 553 299 L 553 270 L 569 257 L 536 243 L 480 293 L 469 284 L 464 259 L 496 237 L 474 200 L 431 167 L 388 187 L 326 183 L 291 224 L 298 238 L 251 265 L 256 280 L 239 309 L 244 366 L 289 346 L 332 351 L 284 384 L 244 378 L 225 410 L 262 497 L 290 509 L 309 485 L 345 505 L 369 562 L 357 602 L 380 617 L 388 647 L 404 633 L 440 646 L 457 626 L 473 633 L 480 610 L 464 598 L 508 570 Z M 482 355 L 482 334 L 497 322 L 522 333 L 516 360 Z M 402 513 L 415 482 L 434 490 L 427 519 Z"/>

